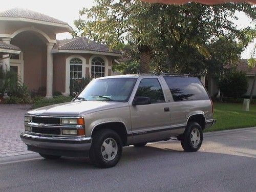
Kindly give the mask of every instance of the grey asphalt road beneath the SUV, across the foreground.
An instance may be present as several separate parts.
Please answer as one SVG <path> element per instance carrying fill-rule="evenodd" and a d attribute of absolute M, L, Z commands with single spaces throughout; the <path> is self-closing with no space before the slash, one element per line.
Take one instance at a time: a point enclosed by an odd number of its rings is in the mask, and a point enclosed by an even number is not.
<path fill-rule="evenodd" d="M 108 169 L 36 154 L 2 159 L 0 191 L 256 191 L 256 129 L 206 134 L 196 153 L 178 141 L 125 147 Z"/>

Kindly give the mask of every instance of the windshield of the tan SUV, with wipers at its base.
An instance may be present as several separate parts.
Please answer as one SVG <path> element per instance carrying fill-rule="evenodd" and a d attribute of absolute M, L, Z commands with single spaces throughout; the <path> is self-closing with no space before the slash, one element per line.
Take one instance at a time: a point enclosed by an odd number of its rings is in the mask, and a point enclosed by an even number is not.
<path fill-rule="evenodd" d="M 109 78 L 92 80 L 77 96 L 86 100 L 128 101 L 136 78 Z"/>

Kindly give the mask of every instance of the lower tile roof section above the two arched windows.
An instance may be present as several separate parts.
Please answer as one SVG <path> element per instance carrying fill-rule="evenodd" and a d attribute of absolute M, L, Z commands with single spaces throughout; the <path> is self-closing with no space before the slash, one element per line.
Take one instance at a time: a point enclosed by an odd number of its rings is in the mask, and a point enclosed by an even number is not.
<path fill-rule="evenodd" d="M 86 37 L 77 37 L 72 39 L 57 40 L 57 44 L 54 47 L 58 50 L 74 50 L 74 51 L 97 51 L 105 53 L 120 54 L 118 50 L 110 50 L 108 46 L 99 44 Z"/>

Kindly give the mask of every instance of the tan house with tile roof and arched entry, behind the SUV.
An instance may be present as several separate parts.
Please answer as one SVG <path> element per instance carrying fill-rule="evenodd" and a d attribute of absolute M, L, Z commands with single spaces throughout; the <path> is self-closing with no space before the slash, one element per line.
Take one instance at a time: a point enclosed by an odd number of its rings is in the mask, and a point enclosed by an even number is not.
<path fill-rule="evenodd" d="M 63 32 L 72 28 L 41 13 L 19 8 L 0 13 L 3 69 L 16 71 L 30 91 L 46 87 L 48 98 L 53 91 L 69 95 L 71 78 L 114 74 L 112 63 L 121 56 L 119 51 L 84 37 L 56 40 L 56 34 Z"/>

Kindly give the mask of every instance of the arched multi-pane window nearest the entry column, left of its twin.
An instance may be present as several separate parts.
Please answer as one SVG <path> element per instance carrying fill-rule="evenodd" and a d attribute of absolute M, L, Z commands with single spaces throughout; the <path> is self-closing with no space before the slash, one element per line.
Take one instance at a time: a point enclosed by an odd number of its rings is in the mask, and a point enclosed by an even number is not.
<path fill-rule="evenodd" d="M 82 78 L 82 60 L 73 58 L 70 60 L 70 80 Z"/>

